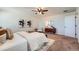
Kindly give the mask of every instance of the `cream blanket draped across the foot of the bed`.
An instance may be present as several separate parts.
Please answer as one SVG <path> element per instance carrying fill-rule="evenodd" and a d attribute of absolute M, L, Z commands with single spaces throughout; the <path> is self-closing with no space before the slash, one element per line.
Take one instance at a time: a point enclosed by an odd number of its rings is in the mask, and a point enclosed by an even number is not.
<path fill-rule="evenodd" d="M 26 38 L 29 43 L 30 50 L 39 50 L 44 43 L 48 42 L 48 39 L 43 33 L 27 33 L 27 32 L 17 32 L 20 36 Z"/>

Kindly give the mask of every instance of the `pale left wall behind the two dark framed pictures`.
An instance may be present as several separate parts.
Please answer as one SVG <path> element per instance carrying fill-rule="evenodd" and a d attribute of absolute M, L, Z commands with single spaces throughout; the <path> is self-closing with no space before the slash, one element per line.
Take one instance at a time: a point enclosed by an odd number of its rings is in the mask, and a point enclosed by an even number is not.
<path fill-rule="evenodd" d="M 27 24 L 28 20 L 32 21 L 32 28 L 37 27 L 38 25 L 38 17 L 29 13 L 27 9 L 19 10 L 19 8 L 0 8 L 0 26 L 11 28 L 14 32 L 22 29 L 19 27 L 18 22 L 20 19 L 24 19 Z M 27 30 L 28 26 L 25 25 L 25 30 Z"/>

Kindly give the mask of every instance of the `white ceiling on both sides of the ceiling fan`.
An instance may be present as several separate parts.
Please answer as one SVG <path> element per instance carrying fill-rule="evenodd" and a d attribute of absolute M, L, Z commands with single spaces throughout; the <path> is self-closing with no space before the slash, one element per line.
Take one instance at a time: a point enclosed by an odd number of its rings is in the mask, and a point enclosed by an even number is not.
<path fill-rule="evenodd" d="M 4 11 L 22 11 L 24 13 L 29 13 L 30 15 L 34 15 L 34 12 L 32 11 L 35 9 L 35 7 L 1 7 L 0 12 Z M 46 12 L 46 15 L 56 15 L 56 14 L 63 14 L 64 10 L 74 10 L 76 7 L 45 7 L 44 9 L 48 9 L 48 12 Z"/>

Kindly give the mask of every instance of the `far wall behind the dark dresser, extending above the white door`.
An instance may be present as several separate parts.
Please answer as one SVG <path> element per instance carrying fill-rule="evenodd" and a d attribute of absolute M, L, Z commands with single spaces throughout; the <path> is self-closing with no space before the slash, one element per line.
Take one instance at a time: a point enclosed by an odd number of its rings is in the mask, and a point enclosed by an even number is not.
<path fill-rule="evenodd" d="M 47 21 L 51 21 L 52 26 L 54 26 L 57 29 L 57 33 L 56 34 L 61 34 L 64 35 L 65 34 L 65 16 L 68 15 L 74 15 L 75 17 L 75 12 L 72 13 L 66 13 L 66 14 L 57 14 L 57 15 L 46 15 L 43 16 L 39 22 L 40 26 L 42 26 L 43 28 L 45 28 L 45 24 Z"/>

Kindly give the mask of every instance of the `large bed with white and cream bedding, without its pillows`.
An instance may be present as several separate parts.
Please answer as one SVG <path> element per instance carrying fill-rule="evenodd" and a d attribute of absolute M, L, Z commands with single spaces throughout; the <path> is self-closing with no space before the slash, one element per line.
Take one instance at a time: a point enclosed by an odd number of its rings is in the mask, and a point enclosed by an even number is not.
<path fill-rule="evenodd" d="M 43 33 L 24 31 L 13 33 L 12 40 L 0 45 L 0 51 L 47 51 L 55 40 L 46 38 Z"/>

